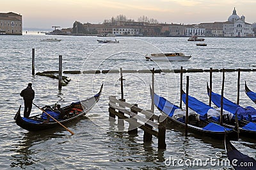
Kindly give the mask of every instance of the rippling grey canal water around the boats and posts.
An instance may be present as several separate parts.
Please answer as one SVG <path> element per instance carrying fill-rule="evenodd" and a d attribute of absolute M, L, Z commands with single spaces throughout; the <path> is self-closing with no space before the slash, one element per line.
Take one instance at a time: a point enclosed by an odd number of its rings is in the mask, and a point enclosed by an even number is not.
<path fill-rule="evenodd" d="M 147 70 L 189 68 L 255 68 L 255 38 L 205 38 L 207 47 L 196 47 L 188 38 L 125 38 L 116 37 L 118 44 L 100 45 L 96 36 L 55 36 L 61 42 L 40 42 L 46 35 L 0 36 L 0 93 L 1 93 L 1 169 L 225 169 L 226 166 L 172 166 L 165 160 L 195 160 L 216 158 L 220 152 L 226 159 L 223 141 L 189 134 L 169 125 L 166 131 L 166 150 L 157 150 L 157 139 L 143 143 L 143 132 L 137 136 L 127 134 L 108 121 L 108 97 L 120 98 L 119 73 L 70 75 L 72 81 L 58 91 L 58 80 L 31 75 L 31 49 L 35 48 L 36 72 L 58 70 L 58 56 L 63 56 L 63 70 Z M 52 38 L 52 36 L 51 36 Z M 150 52 L 184 52 L 189 61 L 154 63 L 145 61 Z M 189 94 L 208 103 L 206 81 L 209 73 L 189 75 Z M 213 91 L 221 91 L 222 73 L 213 73 Z M 125 99 L 150 109 L 149 73 L 124 73 Z M 155 75 L 155 88 L 159 95 L 179 105 L 179 74 Z M 256 91 L 255 72 L 241 72 L 240 104 L 252 105 L 244 94 L 244 81 Z M 104 82 L 102 97 L 92 111 L 81 120 L 68 125 L 75 135 L 63 128 L 45 132 L 28 132 L 18 127 L 13 116 L 23 101 L 20 91 L 28 82 L 35 89 L 34 103 L 40 106 L 58 102 L 71 102 L 91 97 Z M 236 101 L 237 72 L 225 75 L 225 96 Z M 184 105 L 183 105 L 184 106 Z M 33 107 L 31 114 L 38 114 Z M 156 114 L 159 114 L 156 111 Z M 256 154 L 256 141 L 240 139 L 234 144 L 252 157 Z"/>

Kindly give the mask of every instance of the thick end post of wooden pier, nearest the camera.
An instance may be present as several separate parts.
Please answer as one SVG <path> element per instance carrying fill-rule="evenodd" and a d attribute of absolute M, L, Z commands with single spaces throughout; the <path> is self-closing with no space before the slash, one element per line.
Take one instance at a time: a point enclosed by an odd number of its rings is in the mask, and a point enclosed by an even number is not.
<path fill-rule="evenodd" d="M 165 143 L 165 133 L 166 133 L 166 116 L 159 116 L 158 125 L 158 149 L 166 149 Z"/>

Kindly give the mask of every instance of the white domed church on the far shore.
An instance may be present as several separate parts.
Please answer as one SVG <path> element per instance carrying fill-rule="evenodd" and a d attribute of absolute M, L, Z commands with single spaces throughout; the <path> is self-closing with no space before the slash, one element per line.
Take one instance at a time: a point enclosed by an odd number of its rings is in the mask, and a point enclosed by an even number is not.
<path fill-rule="evenodd" d="M 253 25 L 245 22 L 245 17 L 239 17 L 234 8 L 228 21 L 223 23 L 223 35 L 227 37 L 252 37 L 254 36 Z"/>

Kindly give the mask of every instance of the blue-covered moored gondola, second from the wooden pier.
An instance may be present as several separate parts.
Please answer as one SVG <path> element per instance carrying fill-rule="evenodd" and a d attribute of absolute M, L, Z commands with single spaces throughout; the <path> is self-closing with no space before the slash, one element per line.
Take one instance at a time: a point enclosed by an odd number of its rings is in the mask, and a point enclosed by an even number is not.
<path fill-rule="evenodd" d="M 183 102 L 186 102 L 186 94 L 184 91 L 182 91 L 182 100 Z M 188 107 L 200 114 L 201 120 L 220 124 L 220 110 L 214 109 L 213 107 L 191 96 L 188 97 Z M 236 116 L 225 110 L 223 111 L 222 118 L 223 127 L 233 128 L 236 131 L 238 128 L 240 135 L 256 139 L 256 123 L 237 120 L 236 124 Z"/>

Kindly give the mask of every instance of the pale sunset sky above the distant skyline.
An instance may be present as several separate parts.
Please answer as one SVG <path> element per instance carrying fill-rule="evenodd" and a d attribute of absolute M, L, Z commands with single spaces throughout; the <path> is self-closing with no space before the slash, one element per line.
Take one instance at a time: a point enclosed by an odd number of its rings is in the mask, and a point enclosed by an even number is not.
<path fill-rule="evenodd" d="M 1 0 L 0 12 L 22 15 L 23 27 L 72 27 L 81 23 L 99 24 L 125 15 L 138 20 L 143 15 L 160 23 L 200 24 L 225 22 L 236 8 L 245 21 L 256 22 L 255 0 Z"/>

